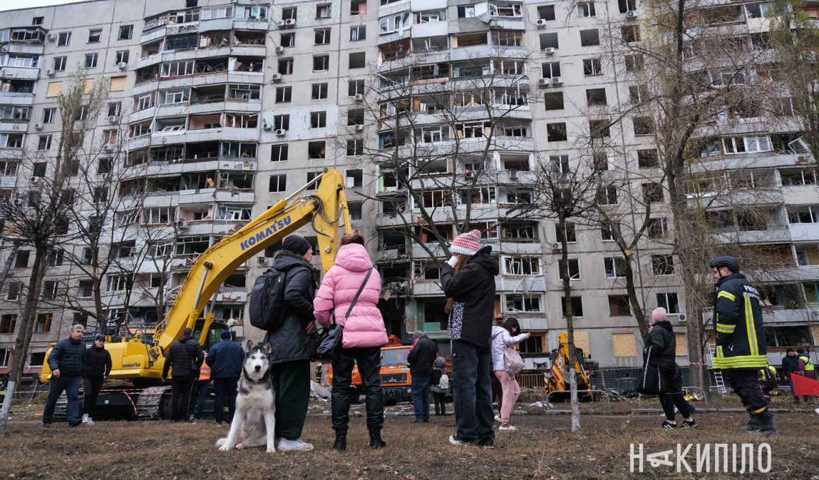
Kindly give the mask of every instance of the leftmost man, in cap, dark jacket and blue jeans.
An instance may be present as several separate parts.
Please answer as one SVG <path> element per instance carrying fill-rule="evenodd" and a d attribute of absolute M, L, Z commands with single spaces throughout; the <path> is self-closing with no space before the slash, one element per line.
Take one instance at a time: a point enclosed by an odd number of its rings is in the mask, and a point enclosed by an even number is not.
<path fill-rule="evenodd" d="M 54 416 L 54 405 L 65 391 L 68 405 L 66 416 L 68 426 L 76 427 L 83 423 L 79 416 L 79 379 L 85 370 L 85 344 L 83 343 L 85 327 L 75 324 L 71 327 L 68 338 L 63 338 L 52 348 L 48 355 L 48 368 L 52 370 L 52 377 L 48 385 L 48 399 L 43 409 L 43 427 L 51 427 Z"/>

